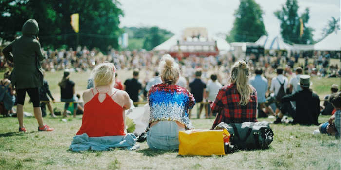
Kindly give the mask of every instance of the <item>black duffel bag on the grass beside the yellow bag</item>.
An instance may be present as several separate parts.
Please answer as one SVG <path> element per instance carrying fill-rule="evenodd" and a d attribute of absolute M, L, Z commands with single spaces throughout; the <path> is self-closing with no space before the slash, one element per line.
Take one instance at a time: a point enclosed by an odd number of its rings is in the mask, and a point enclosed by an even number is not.
<path fill-rule="evenodd" d="M 230 124 L 221 122 L 215 129 L 224 128 L 231 134 L 231 145 L 237 149 L 266 149 L 273 140 L 273 131 L 266 121 Z"/>

